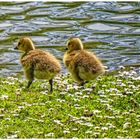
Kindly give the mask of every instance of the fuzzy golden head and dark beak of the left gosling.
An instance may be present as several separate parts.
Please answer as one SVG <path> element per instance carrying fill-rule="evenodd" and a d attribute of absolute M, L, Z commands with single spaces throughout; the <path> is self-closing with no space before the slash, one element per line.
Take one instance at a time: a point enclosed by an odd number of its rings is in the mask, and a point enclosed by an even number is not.
<path fill-rule="evenodd" d="M 22 37 L 19 42 L 18 45 L 14 48 L 23 52 L 29 52 L 30 50 L 34 50 L 34 44 L 32 42 L 32 40 L 29 37 Z"/>

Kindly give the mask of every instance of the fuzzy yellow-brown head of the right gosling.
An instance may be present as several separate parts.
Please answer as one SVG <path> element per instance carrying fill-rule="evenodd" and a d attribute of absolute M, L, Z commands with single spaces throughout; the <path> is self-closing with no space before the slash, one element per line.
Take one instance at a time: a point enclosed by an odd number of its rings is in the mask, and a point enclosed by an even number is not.
<path fill-rule="evenodd" d="M 66 50 L 68 51 L 83 50 L 83 43 L 79 38 L 70 38 L 67 41 Z"/>

